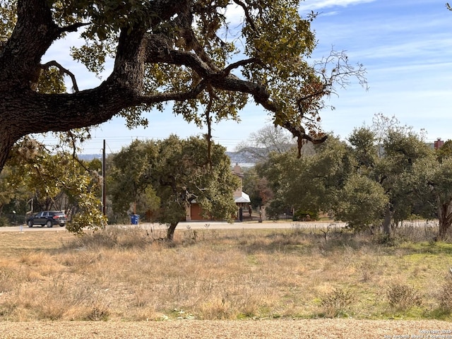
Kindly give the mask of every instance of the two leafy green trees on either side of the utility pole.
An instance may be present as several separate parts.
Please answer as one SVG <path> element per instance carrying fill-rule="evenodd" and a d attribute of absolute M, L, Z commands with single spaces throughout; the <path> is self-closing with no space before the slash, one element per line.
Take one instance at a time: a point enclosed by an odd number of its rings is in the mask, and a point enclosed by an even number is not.
<path fill-rule="evenodd" d="M 137 213 L 166 224 L 172 239 L 191 203 L 198 203 L 206 217 L 220 220 L 232 221 L 237 212 L 233 194 L 239 179 L 231 172 L 230 158 L 225 148 L 205 138 L 133 141 L 109 155 L 105 165 L 109 220 L 127 222 Z M 24 138 L 1 172 L 0 211 L 24 222 L 19 215 L 64 210 L 71 232 L 104 227 L 101 171 L 100 160 L 81 161 L 62 148 L 49 150 Z"/>

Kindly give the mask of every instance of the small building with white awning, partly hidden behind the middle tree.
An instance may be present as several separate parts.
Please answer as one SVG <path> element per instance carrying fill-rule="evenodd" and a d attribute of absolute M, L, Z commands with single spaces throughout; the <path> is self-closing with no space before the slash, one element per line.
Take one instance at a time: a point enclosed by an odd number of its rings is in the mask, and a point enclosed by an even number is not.
<path fill-rule="evenodd" d="M 243 221 L 244 215 L 249 215 L 251 217 L 251 200 L 249 195 L 242 191 L 243 189 L 243 172 L 239 164 L 236 164 L 232 169 L 232 173 L 237 175 L 240 179 L 239 187 L 234 191 L 234 202 L 237 206 L 237 220 Z M 202 220 L 212 220 L 211 218 L 206 218 L 203 216 L 203 210 L 198 203 L 194 202 L 186 208 L 185 221 L 202 221 Z"/>

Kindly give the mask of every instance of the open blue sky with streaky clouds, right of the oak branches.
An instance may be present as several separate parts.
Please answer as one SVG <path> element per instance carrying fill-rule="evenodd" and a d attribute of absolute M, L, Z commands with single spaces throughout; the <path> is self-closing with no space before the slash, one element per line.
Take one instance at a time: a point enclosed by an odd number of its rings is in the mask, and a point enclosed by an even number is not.
<path fill-rule="evenodd" d="M 333 5 L 334 4 L 334 5 Z M 337 4 L 342 4 L 338 6 Z M 318 6 L 316 53 L 332 45 L 367 69 L 358 85 L 332 97 L 323 127 L 346 138 L 376 113 L 396 116 L 427 140 L 452 138 L 452 12 L 445 1 L 305 1 Z"/>

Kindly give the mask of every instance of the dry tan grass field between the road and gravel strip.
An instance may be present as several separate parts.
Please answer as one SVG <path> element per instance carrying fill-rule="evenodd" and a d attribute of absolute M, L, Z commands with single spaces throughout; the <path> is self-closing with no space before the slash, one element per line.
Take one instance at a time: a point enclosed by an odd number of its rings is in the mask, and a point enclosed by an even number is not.
<path fill-rule="evenodd" d="M 442 321 L 430 330 L 452 329 L 452 244 L 434 242 L 431 227 L 397 230 L 391 244 L 296 224 L 289 230 L 206 225 L 178 230 L 173 244 L 157 240 L 158 232 L 108 227 L 75 237 L 0 229 L 0 327 L 340 318 Z M 0 338 L 10 338 L 5 333 Z"/>

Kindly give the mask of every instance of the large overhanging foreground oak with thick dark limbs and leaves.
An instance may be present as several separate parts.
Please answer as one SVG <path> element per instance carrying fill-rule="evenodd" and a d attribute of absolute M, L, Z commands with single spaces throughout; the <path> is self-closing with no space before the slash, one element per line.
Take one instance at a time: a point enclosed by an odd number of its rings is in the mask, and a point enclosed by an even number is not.
<path fill-rule="evenodd" d="M 302 141 L 323 141 L 323 97 L 361 65 L 343 53 L 318 62 L 311 20 L 295 0 L 0 0 L 0 169 L 14 143 L 30 133 L 74 133 L 115 115 L 129 126 L 172 102 L 176 114 L 208 126 L 239 119 L 250 98 Z M 231 11 L 239 23 L 231 23 Z M 239 13 L 237 15 L 237 13 Z M 42 64 L 57 40 L 78 32 L 73 59 L 107 78 L 80 90 L 58 60 Z M 66 66 L 66 67 L 65 67 Z M 72 90 L 67 90 L 71 83 Z M 82 130 L 84 131 L 84 130 Z"/>

